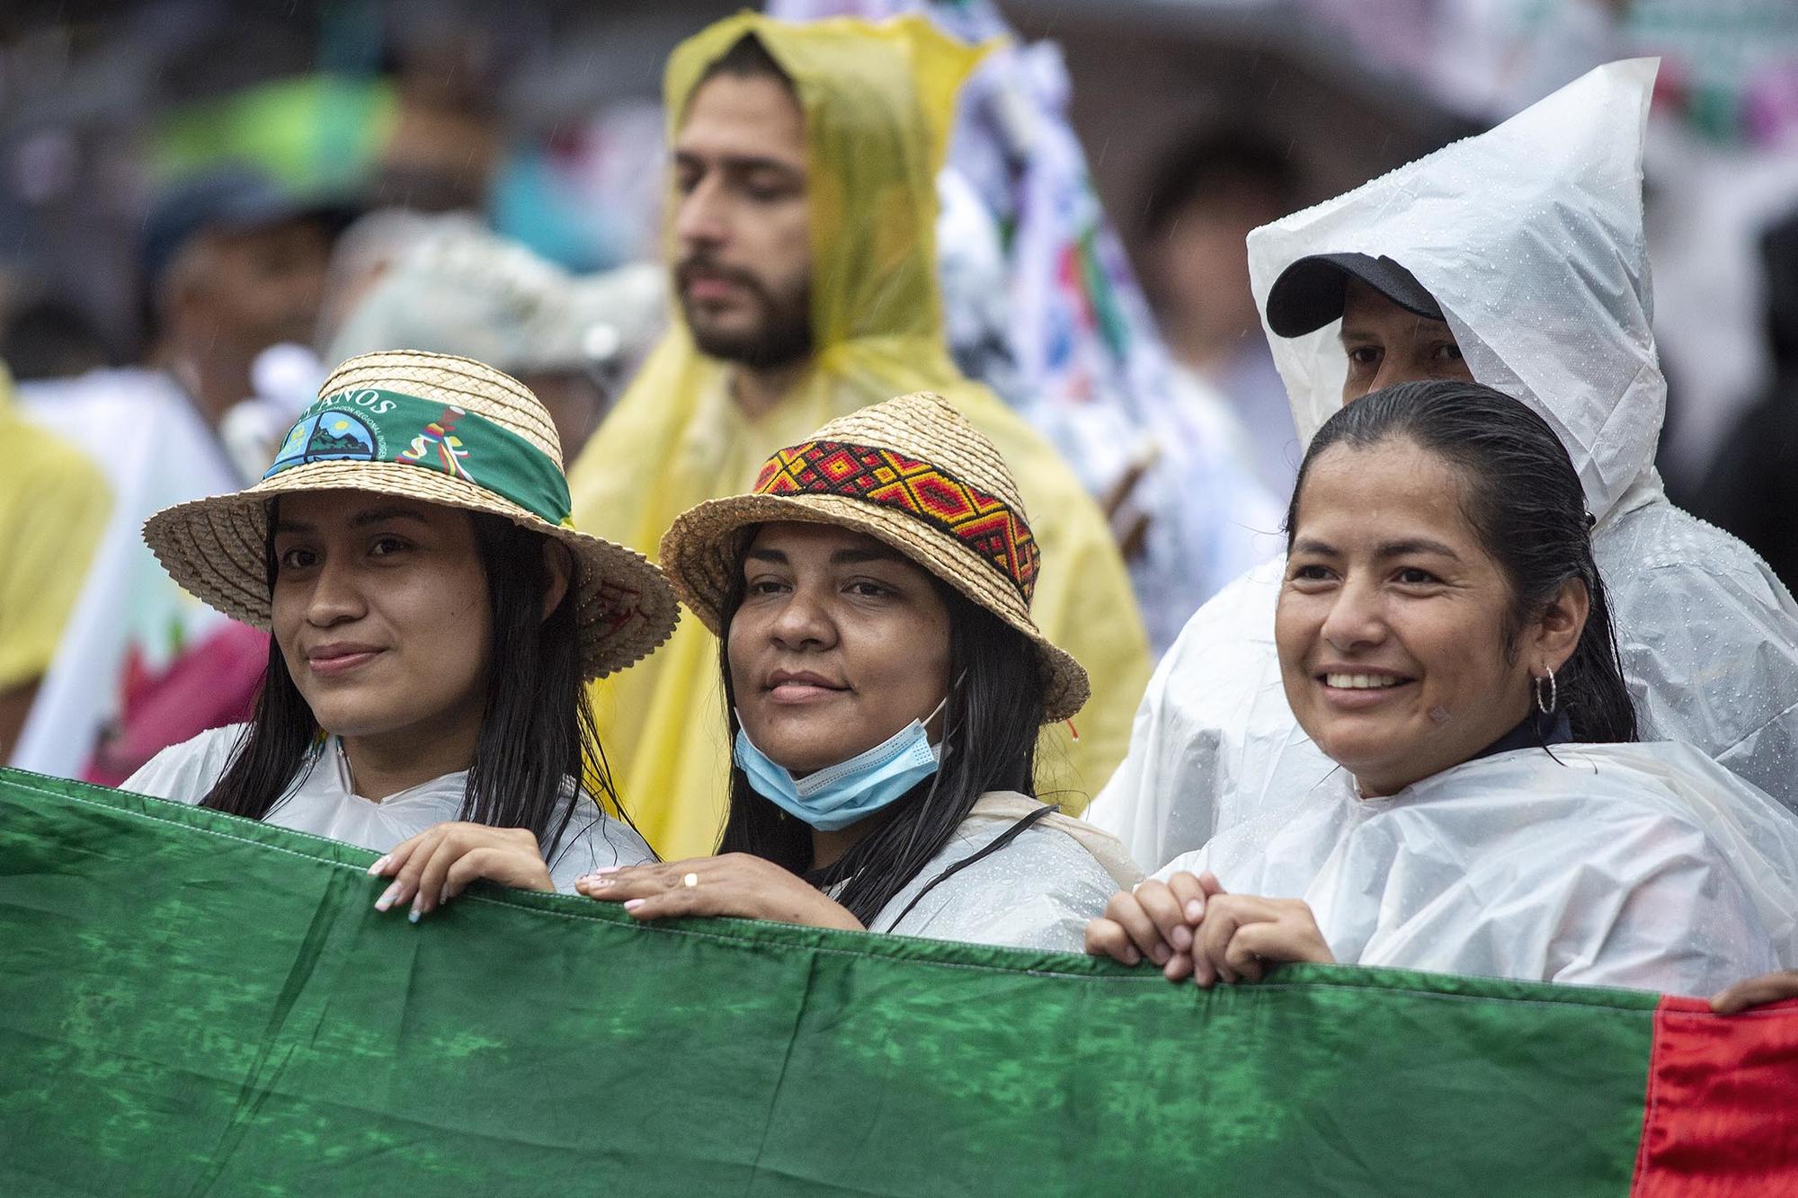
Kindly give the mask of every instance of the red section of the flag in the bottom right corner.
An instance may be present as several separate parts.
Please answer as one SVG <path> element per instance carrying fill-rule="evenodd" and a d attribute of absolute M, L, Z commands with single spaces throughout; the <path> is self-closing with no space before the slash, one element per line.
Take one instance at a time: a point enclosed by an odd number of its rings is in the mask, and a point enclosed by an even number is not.
<path fill-rule="evenodd" d="M 1654 1009 L 1633 1198 L 1798 1194 L 1798 1000 Z"/>

